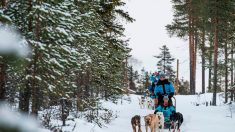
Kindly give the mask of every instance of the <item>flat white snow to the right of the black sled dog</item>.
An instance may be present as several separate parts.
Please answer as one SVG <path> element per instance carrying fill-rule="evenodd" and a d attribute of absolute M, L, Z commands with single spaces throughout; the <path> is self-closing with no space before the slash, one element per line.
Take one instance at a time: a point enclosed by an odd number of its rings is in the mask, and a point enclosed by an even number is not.
<path fill-rule="evenodd" d="M 183 132 L 232 132 L 235 130 L 235 119 L 226 117 L 228 106 L 194 106 L 191 102 L 197 100 L 196 96 L 176 96 L 176 98 L 177 111 L 183 113 L 185 118 L 182 126 Z M 209 101 L 209 99 L 207 96 L 205 100 Z M 217 101 L 220 101 L 219 98 Z"/>

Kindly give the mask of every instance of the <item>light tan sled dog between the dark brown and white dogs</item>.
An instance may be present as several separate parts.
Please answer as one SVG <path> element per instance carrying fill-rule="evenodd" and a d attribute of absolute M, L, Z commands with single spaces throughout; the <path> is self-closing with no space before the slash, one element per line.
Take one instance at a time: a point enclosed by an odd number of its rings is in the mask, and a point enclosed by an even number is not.
<path fill-rule="evenodd" d="M 156 132 L 159 128 L 159 118 L 155 114 L 149 114 L 144 117 L 146 132 L 148 132 L 148 127 L 151 132 Z"/>

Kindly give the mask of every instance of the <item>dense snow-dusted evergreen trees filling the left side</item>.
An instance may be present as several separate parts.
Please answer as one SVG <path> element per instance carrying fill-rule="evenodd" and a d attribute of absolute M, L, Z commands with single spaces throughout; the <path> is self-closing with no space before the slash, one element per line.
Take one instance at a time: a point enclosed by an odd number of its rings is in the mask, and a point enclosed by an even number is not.
<path fill-rule="evenodd" d="M 130 48 L 120 18 L 134 19 L 122 6 L 122 0 L 1 1 L 0 26 L 20 32 L 31 52 L 18 65 L 0 56 L 0 98 L 17 99 L 21 111 L 34 115 L 74 100 L 70 110 L 87 113 L 101 127 L 99 111 L 110 111 L 99 101 L 115 101 L 126 85 Z"/>

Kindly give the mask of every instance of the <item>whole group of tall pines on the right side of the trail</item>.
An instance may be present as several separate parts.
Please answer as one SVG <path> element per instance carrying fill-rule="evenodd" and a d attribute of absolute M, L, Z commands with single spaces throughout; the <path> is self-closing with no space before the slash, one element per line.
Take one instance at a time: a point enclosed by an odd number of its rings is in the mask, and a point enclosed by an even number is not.
<path fill-rule="evenodd" d="M 202 58 L 202 93 L 206 91 L 205 71 L 208 69 L 208 91 L 213 92 L 212 104 L 216 105 L 216 93 L 221 90 L 225 92 L 227 102 L 228 89 L 234 90 L 231 86 L 234 84 L 235 1 L 172 0 L 172 4 L 174 19 L 166 29 L 170 36 L 189 40 L 190 93 L 195 94 L 195 62 L 199 52 Z"/>

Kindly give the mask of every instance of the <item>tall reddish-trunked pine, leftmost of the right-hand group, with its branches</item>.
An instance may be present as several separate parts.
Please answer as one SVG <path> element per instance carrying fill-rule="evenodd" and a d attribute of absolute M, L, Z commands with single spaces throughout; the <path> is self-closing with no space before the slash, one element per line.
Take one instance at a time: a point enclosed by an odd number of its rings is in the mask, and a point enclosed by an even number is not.
<path fill-rule="evenodd" d="M 198 3 L 195 0 L 172 0 L 174 19 L 172 24 L 167 25 L 170 36 L 179 38 L 188 37 L 189 40 L 189 68 L 190 68 L 190 92 L 195 94 L 196 88 L 196 56 L 198 43 Z"/>

